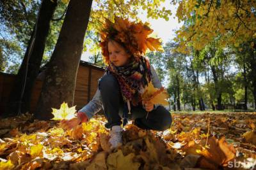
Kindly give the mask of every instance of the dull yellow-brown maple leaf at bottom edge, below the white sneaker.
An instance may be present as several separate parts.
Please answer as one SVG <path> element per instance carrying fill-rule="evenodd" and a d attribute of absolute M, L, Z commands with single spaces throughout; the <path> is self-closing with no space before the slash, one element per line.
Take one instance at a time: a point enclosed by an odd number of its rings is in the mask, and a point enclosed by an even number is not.
<path fill-rule="evenodd" d="M 118 150 L 116 153 L 111 153 L 108 156 L 107 164 L 108 169 L 120 169 L 120 170 L 132 170 L 140 167 L 139 162 L 133 162 L 135 157 L 134 153 L 124 156 L 122 150 Z"/>

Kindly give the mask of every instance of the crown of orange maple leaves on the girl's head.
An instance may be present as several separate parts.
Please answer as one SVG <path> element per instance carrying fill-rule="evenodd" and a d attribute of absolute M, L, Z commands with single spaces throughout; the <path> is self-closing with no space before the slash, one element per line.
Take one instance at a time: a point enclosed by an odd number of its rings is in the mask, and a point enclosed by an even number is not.
<path fill-rule="evenodd" d="M 115 22 L 106 18 L 100 34 L 100 47 L 105 64 L 109 65 L 108 41 L 109 39 L 120 43 L 126 50 L 139 60 L 146 50 L 163 51 L 160 38 L 148 37 L 153 32 L 146 22 L 131 22 L 127 18 L 115 17 Z"/>

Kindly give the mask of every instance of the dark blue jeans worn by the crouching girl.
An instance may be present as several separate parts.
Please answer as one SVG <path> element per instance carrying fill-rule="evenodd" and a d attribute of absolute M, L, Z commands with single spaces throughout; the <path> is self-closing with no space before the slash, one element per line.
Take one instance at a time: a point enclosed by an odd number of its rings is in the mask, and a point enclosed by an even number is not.
<path fill-rule="evenodd" d="M 108 120 L 105 126 L 111 128 L 114 125 L 121 125 L 122 118 L 120 115 L 122 115 L 124 104 L 126 103 L 122 99 L 120 87 L 115 76 L 106 74 L 100 78 L 99 90 L 102 97 L 104 115 Z M 158 106 L 149 113 L 141 105 L 131 106 L 131 113 L 129 119 L 134 120 L 134 124 L 141 129 L 164 131 L 172 124 L 171 114 L 163 106 Z"/>

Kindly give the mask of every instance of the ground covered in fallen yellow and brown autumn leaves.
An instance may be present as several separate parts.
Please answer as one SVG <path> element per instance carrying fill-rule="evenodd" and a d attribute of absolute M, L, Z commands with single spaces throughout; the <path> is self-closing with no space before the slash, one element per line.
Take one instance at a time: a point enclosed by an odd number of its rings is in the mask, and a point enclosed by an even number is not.
<path fill-rule="evenodd" d="M 70 131 L 31 115 L 1 119 L 0 169 L 256 169 L 256 113 L 172 117 L 164 132 L 126 125 L 116 150 L 103 117 Z"/>

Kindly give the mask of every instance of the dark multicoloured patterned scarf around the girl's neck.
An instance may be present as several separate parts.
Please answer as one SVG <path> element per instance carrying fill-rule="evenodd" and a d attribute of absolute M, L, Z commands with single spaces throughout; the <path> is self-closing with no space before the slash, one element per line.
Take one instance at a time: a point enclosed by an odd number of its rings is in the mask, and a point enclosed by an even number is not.
<path fill-rule="evenodd" d="M 140 57 L 139 61 L 133 60 L 125 67 L 116 67 L 110 62 L 106 71 L 118 80 L 124 101 L 131 101 L 133 106 L 137 106 L 141 102 L 141 90 L 151 81 L 148 59 Z"/>

